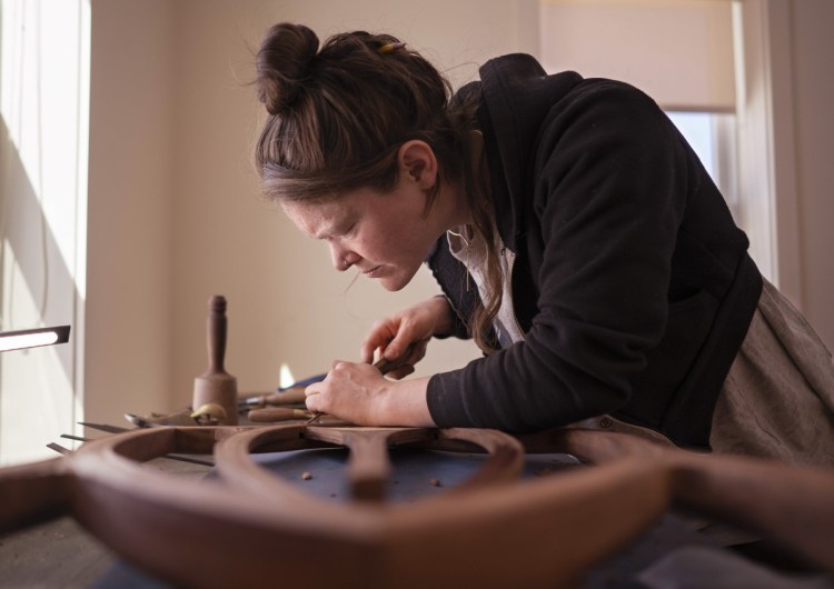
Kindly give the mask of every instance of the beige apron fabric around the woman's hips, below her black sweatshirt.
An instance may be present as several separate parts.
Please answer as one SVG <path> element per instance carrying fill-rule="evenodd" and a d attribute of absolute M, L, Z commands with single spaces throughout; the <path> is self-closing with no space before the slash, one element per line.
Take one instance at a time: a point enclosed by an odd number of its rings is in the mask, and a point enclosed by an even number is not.
<path fill-rule="evenodd" d="M 834 467 L 834 365 L 805 318 L 765 281 L 713 413 L 714 452 Z"/>

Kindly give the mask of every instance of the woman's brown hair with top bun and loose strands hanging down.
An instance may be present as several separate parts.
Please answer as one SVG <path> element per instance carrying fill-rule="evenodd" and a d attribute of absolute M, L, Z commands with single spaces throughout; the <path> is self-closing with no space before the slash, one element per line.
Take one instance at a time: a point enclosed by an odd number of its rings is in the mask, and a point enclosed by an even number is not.
<path fill-rule="evenodd" d="M 365 31 L 330 37 L 319 47 L 302 24 L 279 23 L 257 54 L 258 98 L 269 117 L 255 160 L 265 194 L 276 201 L 326 200 L 359 188 L 379 192 L 398 181 L 397 152 L 423 140 L 434 150 L 441 182 L 463 181 L 474 226 L 494 241 L 488 182 L 476 182 L 468 162 L 468 137 L 477 128 L 477 100 L 453 101 L 448 80 L 416 51 L 388 34 Z M 478 183 L 478 190 L 474 184 Z M 488 289 L 470 331 L 485 351 L 485 335 L 500 305 L 500 269 L 495 256 Z M 489 281 L 492 282 L 492 280 Z"/>

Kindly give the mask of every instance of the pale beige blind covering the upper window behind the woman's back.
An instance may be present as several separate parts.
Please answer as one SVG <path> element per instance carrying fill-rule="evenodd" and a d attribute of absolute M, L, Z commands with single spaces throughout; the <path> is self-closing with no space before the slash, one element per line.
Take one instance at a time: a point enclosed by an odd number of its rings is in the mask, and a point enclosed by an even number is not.
<path fill-rule="evenodd" d="M 550 71 L 623 80 L 665 110 L 735 109 L 731 0 L 540 0 Z"/>

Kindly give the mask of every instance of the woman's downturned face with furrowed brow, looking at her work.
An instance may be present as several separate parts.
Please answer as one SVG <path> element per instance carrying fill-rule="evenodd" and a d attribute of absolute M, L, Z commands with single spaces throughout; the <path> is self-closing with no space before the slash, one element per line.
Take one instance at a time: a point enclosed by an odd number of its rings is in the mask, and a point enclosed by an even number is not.
<path fill-rule="evenodd" d="M 282 208 L 304 233 L 327 241 L 337 270 L 355 267 L 396 291 L 411 280 L 447 229 L 443 207 L 426 211 L 426 199 L 417 182 L 400 177 L 391 192 L 363 188 L 336 200 L 287 202 Z"/>

